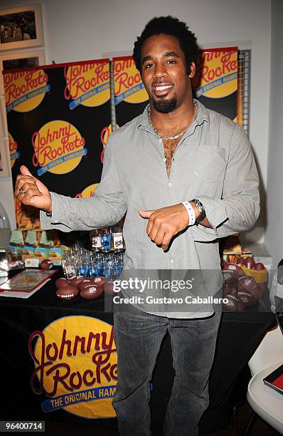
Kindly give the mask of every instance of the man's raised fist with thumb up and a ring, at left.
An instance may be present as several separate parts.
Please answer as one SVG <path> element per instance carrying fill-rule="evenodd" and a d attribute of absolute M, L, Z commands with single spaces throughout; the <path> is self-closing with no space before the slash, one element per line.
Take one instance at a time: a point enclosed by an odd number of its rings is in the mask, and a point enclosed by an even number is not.
<path fill-rule="evenodd" d="M 20 171 L 21 175 L 16 178 L 15 197 L 27 206 L 52 212 L 51 196 L 46 185 L 33 177 L 24 165 L 21 165 Z"/>

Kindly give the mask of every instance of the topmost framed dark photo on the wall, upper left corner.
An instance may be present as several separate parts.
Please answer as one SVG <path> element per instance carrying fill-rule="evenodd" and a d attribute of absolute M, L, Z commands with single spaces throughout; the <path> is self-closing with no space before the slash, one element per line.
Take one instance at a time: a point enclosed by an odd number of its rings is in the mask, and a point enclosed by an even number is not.
<path fill-rule="evenodd" d="M 0 51 L 42 45 L 40 4 L 0 9 Z"/>

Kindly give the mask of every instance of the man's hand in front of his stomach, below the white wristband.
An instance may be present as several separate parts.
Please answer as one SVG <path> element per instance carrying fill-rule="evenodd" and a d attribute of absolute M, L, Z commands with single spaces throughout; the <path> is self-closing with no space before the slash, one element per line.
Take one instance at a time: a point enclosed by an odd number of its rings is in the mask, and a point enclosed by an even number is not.
<path fill-rule="evenodd" d="M 146 233 L 164 251 L 168 249 L 173 236 L 188 227 L 188 212 L 181 203 L 156 210 L 139 209 L 138 212 L 141 217 L 149 219 Z"/>

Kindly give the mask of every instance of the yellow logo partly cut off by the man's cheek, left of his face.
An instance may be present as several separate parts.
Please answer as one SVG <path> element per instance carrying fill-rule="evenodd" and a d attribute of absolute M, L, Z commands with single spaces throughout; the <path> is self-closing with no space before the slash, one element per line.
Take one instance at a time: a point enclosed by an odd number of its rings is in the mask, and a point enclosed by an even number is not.
<path fill-rule="evenodd" d="M 132 56 L 113 58 L 115 105 L 121 101 L 142 103 L 149 100 Z"/>

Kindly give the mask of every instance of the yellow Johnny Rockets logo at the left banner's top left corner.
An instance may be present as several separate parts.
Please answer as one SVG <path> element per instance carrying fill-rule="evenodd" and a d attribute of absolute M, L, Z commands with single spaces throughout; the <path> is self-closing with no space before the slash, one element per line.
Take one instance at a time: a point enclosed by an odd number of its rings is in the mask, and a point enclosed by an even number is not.
<path fill-rule="evenodd" d="M 4 73 L 6 112 L 28 112 L 41 104 L 50 90 L 48 75 L 43 70 Z"/>

